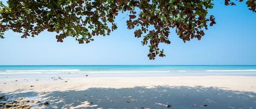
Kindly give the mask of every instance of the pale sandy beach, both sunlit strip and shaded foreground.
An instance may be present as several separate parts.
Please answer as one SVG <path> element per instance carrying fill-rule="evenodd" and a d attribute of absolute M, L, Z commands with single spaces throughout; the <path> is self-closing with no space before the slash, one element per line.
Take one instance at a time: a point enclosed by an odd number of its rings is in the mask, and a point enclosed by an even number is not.
<path fill-rule="evenodd" d="M 256 108 L 255 76 L 6 78 L 0 83 L 0 96 L 34 100 L 28 104 L 32 108 Z"/>

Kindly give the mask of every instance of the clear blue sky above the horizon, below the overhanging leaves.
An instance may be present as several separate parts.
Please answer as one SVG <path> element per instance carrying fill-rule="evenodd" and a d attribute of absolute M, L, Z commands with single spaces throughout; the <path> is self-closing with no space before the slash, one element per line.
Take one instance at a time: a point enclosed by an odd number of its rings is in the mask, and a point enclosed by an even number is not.
<path fill-rule="evenodd" d="M 256 65 L 256 13 L 245 1 L 236 6 L 225 6 L 221 0 L 214 3 L 209 15 L 217 24 L 200 41 L 183 43 L 172 30 L 171 44 L 160 44 L 166 57 L 156 60 L 148 59 L 148 47 L 127 29 L 126 14 L 120 14 L 117 30 L 89 44 L 72 37 L 59 43 L 56 34 L 47 31 L 28 39 L 7 31 L 0 39 L 0 65 Z"/>

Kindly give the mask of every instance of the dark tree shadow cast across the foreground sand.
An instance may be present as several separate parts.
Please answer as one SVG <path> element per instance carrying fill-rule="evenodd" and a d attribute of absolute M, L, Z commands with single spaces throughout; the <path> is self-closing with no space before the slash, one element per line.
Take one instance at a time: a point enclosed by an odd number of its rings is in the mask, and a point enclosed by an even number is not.
<path fill-rule="evenodd" d="M 15 94 L 14 94 L 15 93 Z M 50 101 L 44 108 L 256 108 L 256 93 L 220 89 L 217 87 L 153 88 L 89 88 L 84 91 L 54 91 L 46 93 L 2 93 L 6 97 L 43 97 Z M 193 106 L 196 104 L 197 106 Z M 205 106 L 204 106 L 205 105 Z M 206 106 L 207 105 L 207 106 Z"/>

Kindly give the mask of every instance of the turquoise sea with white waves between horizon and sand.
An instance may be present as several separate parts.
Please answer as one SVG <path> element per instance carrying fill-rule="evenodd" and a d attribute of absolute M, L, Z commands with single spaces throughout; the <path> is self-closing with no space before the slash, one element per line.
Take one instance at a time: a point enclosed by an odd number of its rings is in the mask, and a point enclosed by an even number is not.
<path fill-rule="evenodd" d="M 3 78 L 256 76 L 256 65 L 44 65 L 0 66 Z"/>

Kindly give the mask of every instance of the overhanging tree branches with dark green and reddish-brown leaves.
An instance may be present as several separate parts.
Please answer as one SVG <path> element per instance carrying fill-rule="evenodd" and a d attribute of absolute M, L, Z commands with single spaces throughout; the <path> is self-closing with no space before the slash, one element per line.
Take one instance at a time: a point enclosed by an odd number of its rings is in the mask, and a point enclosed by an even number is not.
<path fill-rule="evenodd" d="M 225 5 L 235 5 L 234 2 L 224 1 Z M 57 33 L 57 42 L 71 36 L 79 43 L 90 43 L 94 36 L 110 35 L 116 30 L 116 16 L 128 11 L 127 29 L 133 29 L 135 37 L 143 37 L 141 43 L 148 45 L 150 60 L 157 55 L 165 56 L 158 45 L 171 43 L 168 38 L 171 28 L 186 42 L 200 40 L 204 30 L 216 24 L 215 17 L 208 15 L 214 5 L 212 0 L 9 0 L 7 3 L 0 2 L 2 39 L 7 30 L 22 33 L 22 38 L 47 30 Z M 256 12 L 255 0 L 246 4 Z"/>

